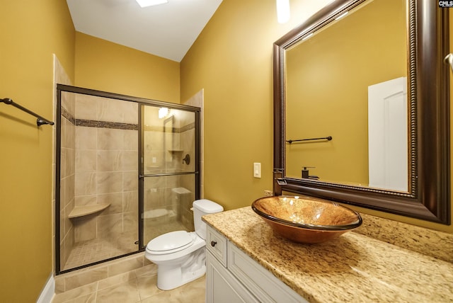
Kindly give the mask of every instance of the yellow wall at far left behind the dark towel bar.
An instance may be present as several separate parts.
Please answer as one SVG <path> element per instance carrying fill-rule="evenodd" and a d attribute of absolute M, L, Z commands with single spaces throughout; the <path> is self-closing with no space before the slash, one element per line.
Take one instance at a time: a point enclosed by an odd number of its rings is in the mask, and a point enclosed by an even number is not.
<path fill-rule="evenodd" d="M 52 119 L 53 57 L 74 75 L 66 1 L 1 1 L 0 98 Z M 52 273 L 52 126 L 0 103 L 0 302 L 35 302 Z"/>

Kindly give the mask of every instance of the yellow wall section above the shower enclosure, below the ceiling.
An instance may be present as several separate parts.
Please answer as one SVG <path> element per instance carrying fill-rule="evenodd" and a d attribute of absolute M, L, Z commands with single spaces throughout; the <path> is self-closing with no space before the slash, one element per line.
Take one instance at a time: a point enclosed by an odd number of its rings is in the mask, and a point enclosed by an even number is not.
<path fill-rule="evenodd" d="M 75 86 L 179 103 L 179 62 L 76 32 Z"/>

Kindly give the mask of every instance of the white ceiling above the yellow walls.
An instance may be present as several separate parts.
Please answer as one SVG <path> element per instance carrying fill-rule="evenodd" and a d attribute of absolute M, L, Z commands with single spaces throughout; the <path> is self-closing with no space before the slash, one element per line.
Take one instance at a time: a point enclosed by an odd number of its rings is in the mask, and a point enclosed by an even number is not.
<path fill-rule="evenodd" d="M 180 62 L 222 0 L 67 0 L 77 31 Z"/>

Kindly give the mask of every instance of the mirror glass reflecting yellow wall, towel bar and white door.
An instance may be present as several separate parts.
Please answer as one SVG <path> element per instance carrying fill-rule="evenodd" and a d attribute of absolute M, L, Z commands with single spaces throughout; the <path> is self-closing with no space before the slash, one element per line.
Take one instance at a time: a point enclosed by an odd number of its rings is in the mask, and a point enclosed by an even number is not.
<path fill-rule="evenodd" d="M 408 190 L 407 102 L 388 84 L 407 76 L 406 16 L 405 0 L 365 1 L 286 50 L 287 140 L 333 137 L 287 144 L 286 176 Z"/>

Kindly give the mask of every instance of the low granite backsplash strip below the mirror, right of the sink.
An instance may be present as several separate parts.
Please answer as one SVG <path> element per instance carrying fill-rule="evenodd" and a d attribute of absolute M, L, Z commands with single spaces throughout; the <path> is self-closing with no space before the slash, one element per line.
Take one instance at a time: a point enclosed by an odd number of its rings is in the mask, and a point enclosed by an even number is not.
<path fill-rule="evenodd" d="M 360 215 L 362 226 L 353 232 L 453 263 L 453 234 L 372 215 Z"/>

